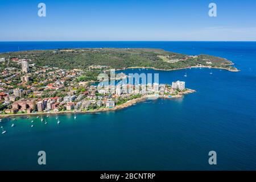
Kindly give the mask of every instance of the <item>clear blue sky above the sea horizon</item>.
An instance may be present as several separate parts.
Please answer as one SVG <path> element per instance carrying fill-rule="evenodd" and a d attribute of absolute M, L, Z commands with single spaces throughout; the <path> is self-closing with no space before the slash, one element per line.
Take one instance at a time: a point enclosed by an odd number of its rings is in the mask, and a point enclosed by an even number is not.
<path fill-rule="evenodd" d="M 208 15 L 210 2 L 217 17 Z M 1 0 L 0 23 L 0 41 L 255 41 L 256 1 Z"/>

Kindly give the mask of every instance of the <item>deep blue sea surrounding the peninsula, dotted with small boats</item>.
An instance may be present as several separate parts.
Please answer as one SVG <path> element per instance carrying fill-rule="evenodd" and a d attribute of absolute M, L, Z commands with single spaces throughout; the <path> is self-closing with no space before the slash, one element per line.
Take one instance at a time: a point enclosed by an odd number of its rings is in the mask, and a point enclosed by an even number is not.
<path fill-rule="evenodd" d="M 256 169 L 256 42 L 0 42 L 0 52 L 94 47 L 209 54 L 232 60 L 241 72 L 129 69 L 125 72 L 159 73 L 162 83 L 185 81 L 197 92 L 118 111 L 77 114 L 76 120 L 73 114 L 59 115 L 59 126 L 55 115 L 46 118 L 48 125 L 35 117 L 4 119 L 1 170 Z M 46 166 L 38 165 L 41 150 L 46 151 Z M 215 166 L 208 163 L 212 150 L 217 152 Z"/>

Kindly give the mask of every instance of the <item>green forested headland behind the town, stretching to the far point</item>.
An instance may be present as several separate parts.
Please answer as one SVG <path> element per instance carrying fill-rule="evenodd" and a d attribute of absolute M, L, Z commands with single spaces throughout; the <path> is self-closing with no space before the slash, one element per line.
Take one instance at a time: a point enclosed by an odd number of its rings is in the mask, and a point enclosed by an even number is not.
<path fill-rule="evenodd" d="M 234 70 L 233 63 L 221 57 L 209 55 L 188 56 L 149 48 L 84 48 L 35 50 L 1 53 L 0 57 L 31 59 L 38 66 L 61 69 L 89 69 L 92 65 L 105 65 L 109 68 L 154 67 L 157 69 L 178 69 L 204 66 Z M 210 63 L 209 63 L 210 62 Z"/>

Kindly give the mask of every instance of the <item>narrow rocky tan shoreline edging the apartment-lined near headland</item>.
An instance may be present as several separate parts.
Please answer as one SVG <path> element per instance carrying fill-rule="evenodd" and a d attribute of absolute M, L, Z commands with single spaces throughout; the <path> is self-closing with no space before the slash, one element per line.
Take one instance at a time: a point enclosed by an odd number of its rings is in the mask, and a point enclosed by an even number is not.
<path fill-rule="evenodd" d="M 189 93 L 194 93 L 196 92 L 196 90 L 192 90 L 192 89 L 188 89 L 185 92 L 183 92 L 182 94 L 177 94 L 175 96 L 172 96 L 171 98 L 165 95 L 162 96 L 155 96 L 154 94 L 151 95 L 145 95 L 142 96 L 140 98 L 134 98 L 133 100 L 127 101 L 121 105 L 117 105 L 114 108 L 108 108 L 108 107 L 104 107 L 104 108 L 100 108 L 98 110 L 86 110 L 86 111 L 55 111 L 55 112 L 49 112 L 49 113 L 24 113 L 24 114 L 5 114 L 5 115 L 0 115 L 0 118 L 9 118 L 9 117 L 18 117 L 18 116 L 31 116 L 31 115 L 56 115 L 56 114 L 72 114 L 72 113 L 79 113 L 79 114 L 86 114 L 86 113 L 99 113 L 99 112 L 106 112 L 106 111 L 115 111 L 115 110 L 120 110 L 120 109 L 125 109 L 126 107 L 130 107 L 134 104 L 137 104 L 138 102 L 143 102 L 145 100 L 148 100 L 150 98 L 154 98 L 159 99 L 159 98 L 164 98 L 164 99 L 172 99 L 172 98 L 180 98 L 183 97 L 185 94 L 189 94 Z"/>

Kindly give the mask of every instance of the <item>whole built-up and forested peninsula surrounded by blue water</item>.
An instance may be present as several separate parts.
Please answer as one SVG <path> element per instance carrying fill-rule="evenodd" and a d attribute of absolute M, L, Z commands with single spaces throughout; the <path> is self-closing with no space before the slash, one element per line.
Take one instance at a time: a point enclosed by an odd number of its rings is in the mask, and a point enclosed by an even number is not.
<path fill-rule="evenodd" d="M 148 48 L 84 48 L 0 54 L 2 117 L 24 114 L 95 112 L 122 109 L 147 98 L 177 98 L 195 92 L 185 82 L 123 84 L 109 93 L 91 82 L 110 69 L 176 70 L 207 67 L 238 71 L 232 61 Z M 119 74 L 120 75 L 120 74 Z M 121 75 L 121 79 L 126 77 Z M 117 78 L 118 79 L 118 78 Z M 172 80 L 173 81 L 173 80 Z M 135 89 L 137 88 L 137 89 Z"/>

